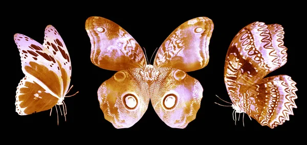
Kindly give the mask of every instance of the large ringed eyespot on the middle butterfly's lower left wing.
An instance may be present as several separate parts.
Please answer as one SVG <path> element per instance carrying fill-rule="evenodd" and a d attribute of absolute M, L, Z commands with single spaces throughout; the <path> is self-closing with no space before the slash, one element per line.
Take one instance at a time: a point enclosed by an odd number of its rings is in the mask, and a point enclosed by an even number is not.
<path fill-rule="evenodd" d="M 139 98 L 136 94 L 130 92 L 126 93 L 125 95 L 122 96 L 122 102 L 125 108 L 127 108 L 130 111 L 133 111 L 137 108 L 138 103 L 139 103 Z"/>

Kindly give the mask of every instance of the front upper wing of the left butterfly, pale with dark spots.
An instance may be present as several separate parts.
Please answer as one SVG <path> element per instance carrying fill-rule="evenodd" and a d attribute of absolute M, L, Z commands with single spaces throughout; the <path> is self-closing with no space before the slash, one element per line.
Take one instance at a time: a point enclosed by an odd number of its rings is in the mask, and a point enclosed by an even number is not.
<path fill-rule="evenodd" d="M 35 40 L 23 35 L 14 35 L 21 58 L 21 69 L 53 96 L 60 98 L 63 94 L 61 65 L 48 49 Z"/>

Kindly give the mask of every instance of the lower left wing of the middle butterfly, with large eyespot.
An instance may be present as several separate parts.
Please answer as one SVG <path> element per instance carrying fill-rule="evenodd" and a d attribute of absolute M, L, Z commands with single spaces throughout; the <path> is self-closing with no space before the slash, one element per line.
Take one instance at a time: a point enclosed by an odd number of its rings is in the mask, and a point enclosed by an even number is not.
<path fill-rule="evenodd" d="M 118 71 L 98 89 L 104 118 L 117 129 L 133 126 L 147 110 L 148 85 L 139 72 L 140 68 Z"/>

